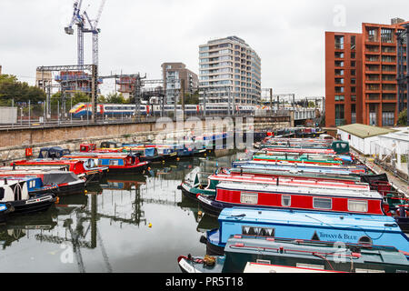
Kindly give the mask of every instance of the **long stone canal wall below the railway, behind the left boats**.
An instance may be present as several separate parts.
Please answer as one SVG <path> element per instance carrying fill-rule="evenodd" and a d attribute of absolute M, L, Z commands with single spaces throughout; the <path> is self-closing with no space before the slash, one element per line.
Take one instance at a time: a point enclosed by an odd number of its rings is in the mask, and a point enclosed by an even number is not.
<path fill-rule="evenodd" d="M 198 120 L 199 125 L 205 126 L 205 120 Z M 273 121 L 271 118 L 254 119 L 254 124 L 247 125 L 244 121 L 244 130 L 271 130 L 274 128 L 289 127 L 291 123 L 285 118 Z M 82 125 L 53 128 L 29 128 L 0 131 L 0 159 L 1 163 L 25 159 L 25 148 L 33 149 L 33 156 L 38 156 L 42 147 L 61 146 L 71 151 L 78 151 L 79 146 L 85 143 L 99 146 L 103 141 L 118 143 L 143 143 L 155 140 L 159 134 L 184 136 L 192 133 L 192 125 L 186 123 L 184 128 L 178 128 L 175 123 L 167 125 L 156 123 L 123 124 L 123 125 Z M 215 123 L 214 128 L 206 132 L 224 131 L 225 123 Z"/>

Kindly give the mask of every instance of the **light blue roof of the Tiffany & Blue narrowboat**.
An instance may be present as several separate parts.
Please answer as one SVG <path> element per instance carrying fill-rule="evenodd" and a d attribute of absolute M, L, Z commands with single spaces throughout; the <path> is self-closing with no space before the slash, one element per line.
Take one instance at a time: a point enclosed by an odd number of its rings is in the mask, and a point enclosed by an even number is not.
<path fill-rule="evenodd" d="M 371 216 L 350 213 L 324 213 L 291 209 L 266 209 L 250 207 L 224 208 L 219 222 L 237 222 L 241 224 L 283 224 L 320 226 L 324 228 L 355 228 L 373 231 L 402 233 L 392 216 Z"/>

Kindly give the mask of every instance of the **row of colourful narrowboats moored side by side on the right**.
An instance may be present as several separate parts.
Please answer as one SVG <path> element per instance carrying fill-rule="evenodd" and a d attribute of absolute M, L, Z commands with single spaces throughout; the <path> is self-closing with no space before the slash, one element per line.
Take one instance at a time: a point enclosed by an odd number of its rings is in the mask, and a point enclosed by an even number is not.
<path fill-rule="evenodd" d="M 347 143 L 269 135 L 256 148 L 178 186 L 219 224 L 205 257 L 178 257 L 183 272 L 409 272 L 408 200 Z"/>

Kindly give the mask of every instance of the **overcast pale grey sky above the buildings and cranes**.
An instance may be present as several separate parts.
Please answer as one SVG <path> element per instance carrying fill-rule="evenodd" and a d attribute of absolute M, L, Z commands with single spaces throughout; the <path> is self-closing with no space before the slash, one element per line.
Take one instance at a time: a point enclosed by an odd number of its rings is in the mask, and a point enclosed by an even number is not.
<path fill-rule="evenodd" d="M 101 0 L 84 0 L 94 18 Z M 0 0 L 3 73 L 35 82 L 39 65 L 76 65 L 76 33 L 65 35 L 74 0 Z M 274 93 L 324 95 L 324 32 L 361 32 L 363 22 L 409 19 L 408 1 L 106 0 L 99 36 L 100 75 L 146 74 L 183 62 L 198 71 L 198 46 L 237 35 L 262 59 L 262 87 Z M 85 35 L 90 64 L 91 35 Z M 114 86 L 105 84 L 104 90 Z"/>

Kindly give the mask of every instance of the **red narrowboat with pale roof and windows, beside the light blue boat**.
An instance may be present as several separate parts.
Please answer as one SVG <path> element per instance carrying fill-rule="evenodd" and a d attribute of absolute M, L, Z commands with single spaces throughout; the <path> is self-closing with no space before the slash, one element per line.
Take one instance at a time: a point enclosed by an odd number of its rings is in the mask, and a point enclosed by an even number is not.
<path fill-rule="evenodd" d="M 366 215 L 388 215 L 384 197 L 361 185 L 336 186 L 328 184 L 316 187 L 292 181 L 275 179 L 275 183 L 234 183 L 234 179 L 218 183 L 214 196 L 198 195 L 197 199 L 205 213 L 219 216 L 224 208 L 234 206 L 265 207 L 276 209 L 309 210 L 319 212 L 360 213 Z M 365 185 L 363 185 L 364 187 Z M 366 185 L 367 187 L 367 185 Z"/>

